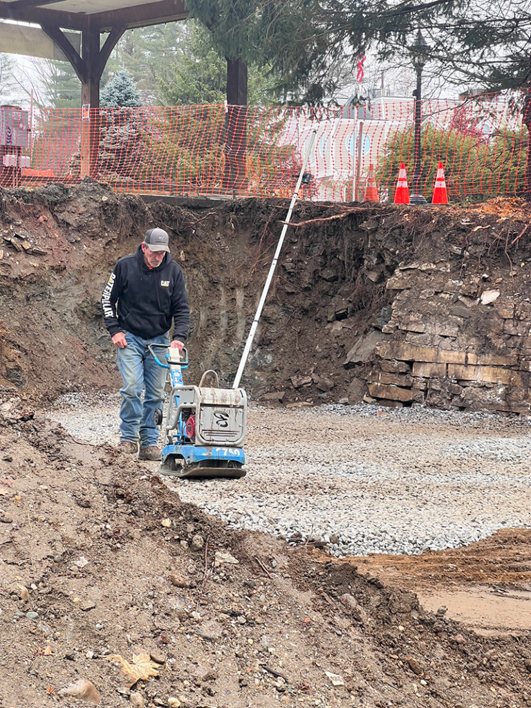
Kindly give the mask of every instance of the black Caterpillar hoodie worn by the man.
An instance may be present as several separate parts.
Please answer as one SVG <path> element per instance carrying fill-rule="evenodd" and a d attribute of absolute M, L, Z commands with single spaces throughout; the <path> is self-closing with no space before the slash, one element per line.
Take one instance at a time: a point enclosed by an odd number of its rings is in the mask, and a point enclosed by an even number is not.
<path fill-rule="evenodd" d="M 101 295 L 101 307 L 111 337 L 130 332 L 152 339 L 169 331 L 172 317 L 173 339 L 185 341 L 188 334 L 190 305 L 183 272 L 170 253 L 158 268 L 144 263 L 142 246 L 131 256 L 120 258 Z"/>

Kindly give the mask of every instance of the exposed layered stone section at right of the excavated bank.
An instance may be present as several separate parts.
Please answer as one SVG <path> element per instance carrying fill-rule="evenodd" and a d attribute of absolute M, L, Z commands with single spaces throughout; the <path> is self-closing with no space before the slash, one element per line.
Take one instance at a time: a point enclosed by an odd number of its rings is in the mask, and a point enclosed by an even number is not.
<path fill-rule="evenodd" d="M 365 400 L 530 411 L 531 302 L 510 275 L 459 279 L 450 263 L 401 263 L 386 288 L 392 304 L 345 362 L 365 363 Z M 368 337 L 375 346 L 360 358 Z"/>

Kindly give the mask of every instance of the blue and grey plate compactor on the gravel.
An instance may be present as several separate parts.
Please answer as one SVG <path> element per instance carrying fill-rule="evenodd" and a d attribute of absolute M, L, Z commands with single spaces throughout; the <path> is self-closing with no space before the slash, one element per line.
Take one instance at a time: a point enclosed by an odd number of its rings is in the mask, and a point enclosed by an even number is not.
<path fill-rule="evenodd" d="M 159 360 L 155 348 L 164 349 L 166 363 Z M 185 386 L 183 369 L 188 367 L 187 350 L 183 348 L 181 353 L 164 345 L 151 345 L 149 350 L 157 364 L 169 370 L 171 382 L 166 421 L 161 409 L 154 416 L 157 426 L 164 422 L 159 474 L 181 479 L 243 477 L 247 413 L 244 389 L 219 388 L 219 377 L 212 370 L 205 371 L 199 386 Z M 209 377 L 214 379 L 215 387 L 204 385 Z"/>

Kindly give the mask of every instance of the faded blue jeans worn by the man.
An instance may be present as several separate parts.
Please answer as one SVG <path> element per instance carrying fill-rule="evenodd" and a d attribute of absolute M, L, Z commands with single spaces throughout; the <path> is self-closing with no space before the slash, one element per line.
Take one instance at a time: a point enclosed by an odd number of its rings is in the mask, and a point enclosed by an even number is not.
<path fill-rule="evenodd" d="M 130 332 L 125 333 L 127 347 L 117 349 L 118 369 L 123 379 L 122 407 L 120 408 L 120 441 L 137 442 L 140 447 L 152 447 L 159 440 L 159 428 L 153 419 L 155 409 L 164 404 L 166 369 L 159 366 L 147 348 L 148 344 L 169 346 L 168 334 L 153 339 L 142 339 Z M 160 361 L 162 350 L 155 353 Z M 142 401 L 142 389 L 144 401 Z"/>

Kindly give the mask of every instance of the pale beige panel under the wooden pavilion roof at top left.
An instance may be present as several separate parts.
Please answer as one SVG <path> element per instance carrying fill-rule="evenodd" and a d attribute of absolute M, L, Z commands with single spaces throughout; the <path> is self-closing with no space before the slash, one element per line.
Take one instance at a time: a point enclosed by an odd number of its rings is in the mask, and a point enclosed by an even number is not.
<path fill-rule="evenodd" d="M 79 54 L 81 33 L 64 32 L 63 34 Z M 60 62 L 68 61 L 55 42 L 40 28 L 12 25 L 8 22 L 0 22 L 0 52 L 58 59 Z"/>

